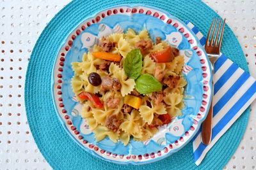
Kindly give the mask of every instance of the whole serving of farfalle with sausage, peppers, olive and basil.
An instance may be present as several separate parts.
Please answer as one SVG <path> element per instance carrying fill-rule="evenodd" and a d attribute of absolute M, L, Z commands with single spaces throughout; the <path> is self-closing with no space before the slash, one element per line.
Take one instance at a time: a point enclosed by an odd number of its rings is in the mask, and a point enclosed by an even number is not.
<path fill-rule="evenodd" d="M 181 116 L 184 57 L 148 31 L 102 36 L 81 62 L 73 62 L 72 90 L 83 104 L 96 141 L 145 141 Z"/>

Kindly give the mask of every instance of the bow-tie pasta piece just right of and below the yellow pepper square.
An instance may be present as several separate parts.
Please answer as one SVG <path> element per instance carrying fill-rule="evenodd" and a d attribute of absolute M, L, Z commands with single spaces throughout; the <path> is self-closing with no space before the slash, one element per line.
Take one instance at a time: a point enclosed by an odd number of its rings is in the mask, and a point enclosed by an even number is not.
<path fill-rule="evenodd" d="M 163 103 L 159 103 L 158 106 L 152 105 L 152 108 L 143 105 L 140 106 L 139 111 L 143 120 L 145 120 L 145 122 L 147 122 L 148 124 L 152 123 L 154 113 L 156 113 L 157 115 L 164 115 L 167 113 Z"/>

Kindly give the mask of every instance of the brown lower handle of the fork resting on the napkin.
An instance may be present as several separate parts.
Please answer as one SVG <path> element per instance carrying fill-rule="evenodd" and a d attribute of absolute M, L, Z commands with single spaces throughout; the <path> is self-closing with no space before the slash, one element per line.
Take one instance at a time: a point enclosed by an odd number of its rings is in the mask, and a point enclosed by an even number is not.
<path fill-rule="evenodd" d="M 208 115 L 202 124 L 201 134 L 202 134 L 202 143 L 204 143 L 204 145 L 209 145 L 209 143 L 211 143 L 211 138 L 212 138 L 212 101 L 211 101 L 211 106 L 209 108 Z"/>

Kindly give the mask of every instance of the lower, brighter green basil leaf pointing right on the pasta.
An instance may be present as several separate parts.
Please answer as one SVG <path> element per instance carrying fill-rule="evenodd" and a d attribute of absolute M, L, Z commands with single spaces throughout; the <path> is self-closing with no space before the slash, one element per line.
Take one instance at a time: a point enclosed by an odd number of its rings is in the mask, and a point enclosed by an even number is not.
<path fill-rule="evenodd" d="M 142 74 L 137 78 L 135 83 L 135 89 L 141 94 L 159 92 L 162 90 L 162 84 L 150 74 Z"/>

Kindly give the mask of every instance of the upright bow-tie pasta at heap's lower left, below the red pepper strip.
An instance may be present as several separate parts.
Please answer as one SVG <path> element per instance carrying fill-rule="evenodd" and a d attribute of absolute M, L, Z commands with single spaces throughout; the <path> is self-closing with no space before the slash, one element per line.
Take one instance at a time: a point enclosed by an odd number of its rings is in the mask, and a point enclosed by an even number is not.
<path fill-rule="evenodd" d="M 89 125 L 89 128 L 93 131 L 99 124 L 95 120 L 92 114 L 93 104 L 90 101 L 86 101 L 83 104 L 83 108 L 81 110 L 81 117 L 86 118 L 86 122 Z"/>

